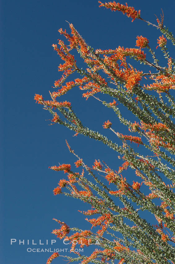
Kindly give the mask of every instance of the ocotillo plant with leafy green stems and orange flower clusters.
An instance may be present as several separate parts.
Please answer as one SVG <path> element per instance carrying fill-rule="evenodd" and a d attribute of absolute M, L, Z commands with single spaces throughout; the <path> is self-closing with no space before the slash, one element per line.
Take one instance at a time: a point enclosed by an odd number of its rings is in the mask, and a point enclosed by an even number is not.
<path fill-rule="evenodd" d="M 58 91 L 50 92 L 51 101 L 45 101 L 39 94 L 35 95 L 35 100 L 53 115 L 51 124 L 64 125 L 75 131 L 76 135 L 82 134 L 106 144 L 118 152 L 117 155 L 123 160 L 123 165 L 110 168 L 105 162 L 95 160 L 94 165 L 90 167 L 67 142 L 69 151 L 77 157 L 75 166 L 82 166 L 83 170 L 82 173 L 75 172 L 70 164 L 51 166 L 52 170 L 67 173 L 67 179 L 60 180 L 53 192 L 55 195 L 65 194 L 79 198 L 90 204 L 91 209 L 82 213 L 85 216 L 97 214 L 95 218 L 86 218 L 86 220 L 92 224 L 92 227 L 99 226 L 99 230 L 97 232 L 93 232 L 93 229 L 80 230 L 77 227 L 69 227 L 62 219 L 55 219 L 61 227 L 53 230 L 52 233 L 72 245 L 72 252 L 76 254 L 76 257 L 62 256 L 69 262 L 77 261 L 81 264 L 89 262 L 96 264 L 101 262 L 174 263 L 175 125 L 173 117 L 175 102 L 171 92 L 175 89 L 175 60 L 170 57 L 166 43 L 168 39 L 175 45 L 175 39 L 163 24 L 163 12 L 161 19 L 157 18 L 155 25 L 142 19 L 140 11 L 128 7 L 127 4 L 99 3 L 100 7 L 121 11 L 131 17 L 132 21 L 139 19 L 160 30 L 157 48 L 163 52 L 167 64 L 161 65 L 149 46 L 149 40 L 143 36 L 137 36 L 136 48 L 119 46 L 114 50 L 94 50 L 86 44 L 72 24 L 69 24 L 71 34 L 59 29 L 59 33 L 67 39 L 68 43 L 65 44 L 59 40 L 59 47 L 53 44 L 54 50 L 64 61 L 59 65 L 59 71 L 63 71 L 63 75 L 55 81 L 54 86 L 58 88 Z M 146 58 L 144 50 L 146 48 L 152 55 L 151 61 Z M 87 69 L 79 68 L 74 55 L 71 54 L 72 50 L 77 50 L 87 64 Z M 139 66 L 139 70 L 135 69 L 129 63 L 131 59 L 136 60 L 138 65 L 140 63 L 149 66 L 150 71 L 143 72 L 142 66 Z M 80 78 L 66 82 L 66 78 L 75 72 L 80 75 Z M 143 80 L 147 83 L 141 85 Z M 128 127 L 129 134 L 124 135 L 112 128 L 111 121 L 104 120 L 103 127 L 115 133 L 121 140 L 121 145 L 83 125 L 85 121 L 82 122 L 77 117 L 70 102 L 56 100 L 75 86 L 83 90 L 84 98 L 93 96 L 104 106 L 111 108 L 120 122 Z M 111 102 L 101 100 L 99 98 L 101 93 L 106 94 L 109 99 L 112 97 Z M 133 123 L 122 117 L 117 102 L 127 107 L 137 121 Z M 134 143 L 137 143 L 138 148 L 134 147 Z M 144 153 L 147 155 L 139 152 L 139 145 L 145 147 Z M 132 185 L 127 182 L 124 174 L 129 167 L 140 177 L 140 182 L 134 179 Z M 88 177 L 91 179 L 86 177 L 85 173 L 90 175 Z M 164 180 L 165 178 L 167 181 Z M 142 191 L 144 185 L 150 190 L 147 195 Z M 67 191 L 64 191 L 66 188 Z M 120 200 L 123 207 L 116 203 L 116 198 Z M 157 203 L 158 199 L 159 203 Z M 157 225 L 149 223 L 149 219 L 142 219 L 140 210 L 151 212 L 155 216 Z M 128 224 L 128 220 L 132 225 Z M 119 232 L 120 236 L 117 235 Z M 97 245 L 96 241 L 98 245 L 90 256 L 85 256 L 77 253 L 74 240 L 81 248 L 91 244 Z M 47 264 L 56 257 L 59 257 L 59 253 L 54 253 L 47 260 Z"/>

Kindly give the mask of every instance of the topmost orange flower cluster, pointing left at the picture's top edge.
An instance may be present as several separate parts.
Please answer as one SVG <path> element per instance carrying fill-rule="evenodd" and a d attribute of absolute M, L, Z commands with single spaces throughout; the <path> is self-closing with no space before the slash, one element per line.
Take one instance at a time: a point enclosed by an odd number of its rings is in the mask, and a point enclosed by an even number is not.
<path fill-rule="evenodd" d="M 110 8 L 112 11 L 121 11 L 123 14 L 126 14 L 128 17 L 133 18 L 135 20 L 136 18 L 140 17 L 140 10 L 136 11 L 134 7 L 128 7 L 127 3 L 126 5 L 122 5 L 120 3 L 116 3 L 115 1 L 113 2 L 108 2 L 103 4 L 102 2 L 98 1 L 101 5 L 99 7 L 106 7 Z M 132 20 L 132 22 L 133 22 Z"/>

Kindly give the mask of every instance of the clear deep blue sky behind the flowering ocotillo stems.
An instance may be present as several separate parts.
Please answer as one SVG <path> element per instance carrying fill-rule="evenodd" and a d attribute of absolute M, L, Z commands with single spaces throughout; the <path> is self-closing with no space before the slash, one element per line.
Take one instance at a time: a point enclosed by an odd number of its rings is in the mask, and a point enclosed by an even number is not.
<path fill-rule="evenodd" d="M 103 2 L 103 1 L 102 1 Z M 120 2 L 125 4 L 125 2 Z M 174 30 L 174 3 L 167 1 L 128 1 L 129 6 L 141 9 L 141 17 L 156 23 L 157 16 L 163 8 L 164 24 L 170 31 Z M 57 186 L 63 173 L 51 171 L 49 166 L 58 162 L 74 164 L 75 157 L 69 153 L 65 139 L 75 152 L 84 158 L 89 166 L 95 159 L 103 159 L 113 169 L 120 163 L 117 153 L 102 143 L 83 136 L 72 137 L 73 133 L 60 126 L 48 126 L 49 113 L 35 104 L 35 93 L 50 99 L 48 91 L 54 81 L 61 77 L 57 67 L 61 63 L 59 56 L 53 51 L 52 44 L 60 38 L 58 29 L 68 30 L 69 21 L 82 37 L 94 48 L 116 48 L 119 45 L 135 47 L 136 37 L 142 35 L 150 40 L 151 48 L 157 46 L 158 30 L 146 23 L 131 19 L 120 12 L 111 12 L 98 7 L 98 1 L 2 1 L 2 87 L 1 130 L 3 149 L 2 177 L 2 263 L 33 264 L 46 263 L 52 253 L 29 253 L 27 248 L 64 248 L 62 241 L 55 246 L 50 245 L 56 239 L 51 231 L 59 228 L 52 218 L 67 222 L 70 226 L 89 229 L 91 226 L 77 210 L 88 207 L 84 203 L 68 197 L 54 196 L 52 190 Z M 158 54 L 162 58 L 163 56 Z M 146 51 L 148 53 L 148 51 Z M 78 55 L 77 55 L 78 59 Z M 110 109 L 106 109 L 93 98 L 85 99 L 81 91 L 75 89 L 64 95 L 61 101 L 72 102 L 83 123 L 91 129 L 115 137 L 103 129 L 103 122 L 110 119 L 114 129 L 126 132 Z M 125 117 L 132 118 L 124 107 Z M 134 175 L 134 174 L 133 174 Z M 133 180 L 133 179 L 131 179 Z M 88 208 L 89 209 L 89 208 Z M 17 242 L 10 244 L 10 239 Z M 24 239 L 24 245 L 19 245 Z M 27 245 L 29 239 L 29 245 Z M 32 239 L 37 246 L 31 245 Z M 46 246 L 48 239 L 49 246 Z M 44 241 L 44 242 L 43 242 Z M 84 250 L 86 254 L 88 251 Z M 64 263 L 55 260 L 53 263 Z"/>

